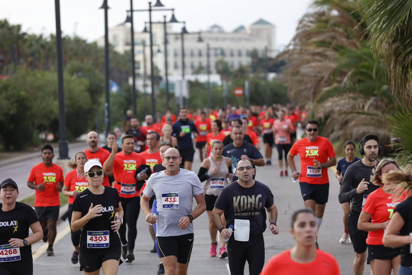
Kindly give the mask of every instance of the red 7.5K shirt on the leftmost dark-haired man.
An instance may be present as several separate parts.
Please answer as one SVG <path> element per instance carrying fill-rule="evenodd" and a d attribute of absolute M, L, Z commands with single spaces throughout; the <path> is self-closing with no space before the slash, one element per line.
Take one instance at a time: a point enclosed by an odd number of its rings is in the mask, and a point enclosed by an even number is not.
<path fill-rule="evenodd" d="M 53 163 L 52 167 L 45 167 L 43 162 L 40 162 L 33 166 L 27 180 L 35 183 L 35 185 L 44 183 L 44 186 L 46 186 L 43 191 L 36 190 L 34 196 L 35 207 L 60 205 L 60 196 L 56 187 L 64 179 L 63 169 L 59 165 Z"/>

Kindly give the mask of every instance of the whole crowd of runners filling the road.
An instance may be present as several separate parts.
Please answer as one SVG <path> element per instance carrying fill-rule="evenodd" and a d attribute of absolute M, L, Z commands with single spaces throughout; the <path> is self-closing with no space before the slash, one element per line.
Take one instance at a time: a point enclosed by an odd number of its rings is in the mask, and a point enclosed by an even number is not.
<path fill-rule="evenodd" d="M 304 136 L 297 137 L 297 127 L 304 128 Z M 142 126 L 129 110 L 122 127 L 107 133 L 104 146 L 99 147 L 96 132 L 87 134 L 87 148 L 67 163 L 71 170 L 65 176 L 53 163 L 52 146 L 45 145 L 42 162 L 27 181 L 35 190 L 34 210 L 16 202 L 19 188 L 13 179 L 0 184 L 0 274 L 33 274 L 30 244 L 41 239 L 48 243 L 47 256 L 53 256 L 58 219 L 68 220 L 70 261 L 80 271 L 117 274 L 123 261 L 135 260 L 140 209 L 153 240 L 150 252 L 159 256 L 157 274 L 187 273 L 193 222 L 205 211 L 209 255 L 228 258 L 233 275 L 243 274 L 246 261 L 253 275 L 339 274 L 336 259 L 317 241 L 329 184 L 336 182 L 343 209 L 339 242 L 353 245 L 353 274 L 363 274 L 365 261 L 374 275 L 412 274 L 412 170 L 391 158 L 377 160 L 382 145 L 373 133 L 358 145 L 347 141 L 338 162 L 319 127 L 292 106 L 196 112 L 182 107 L 177 117 L 170 109 L 156 118 L 147 115 Z M 295 246 L 264 266 L 263 232 L 268 227 L 279 234 L 278 209 L 256 167 L 272 165 L 274 146 L 279 177 L 299 184 L 304 203 L 291 217 Z M 198 171 L 192 171 L 195 150 Z M 356 150 L 362 159 L 354 156 Z M 336 179 L 329 179 L 328 167 L 334 166 Z M 68 197 L 63 215 L 59 192 Z"/>

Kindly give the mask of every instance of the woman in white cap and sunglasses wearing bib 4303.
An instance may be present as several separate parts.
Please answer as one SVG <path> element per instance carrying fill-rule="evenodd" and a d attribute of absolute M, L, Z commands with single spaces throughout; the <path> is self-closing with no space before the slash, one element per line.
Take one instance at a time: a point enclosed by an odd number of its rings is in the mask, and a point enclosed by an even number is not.
<path fill-rule="evenodd" d="M 117 274 L 120 256 L 119 230 L 123 222 L 123 208 L 115 188 L 102 186 L 103 167 L 97 160 L 84 164 L 84 175 L 89 188 L 77 194 L 72 205 L 73 231 L 80 235 L 80 271 L 84 274 Z"/>

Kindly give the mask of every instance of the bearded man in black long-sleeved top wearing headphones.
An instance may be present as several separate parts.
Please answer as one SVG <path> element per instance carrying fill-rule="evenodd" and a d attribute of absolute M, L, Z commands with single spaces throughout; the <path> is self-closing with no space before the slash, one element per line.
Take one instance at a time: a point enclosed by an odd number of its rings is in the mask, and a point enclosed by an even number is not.
<path fill-rule="evenodd" d="M 367 256 L 366 238 L 368 232 L 358 230 L 358 219 L 361 214 L 366 197 L 380 186 L 370 184 L 372 169 L 377 164 L 377 154 L 380 153 L 381 147 L 379 138 L 374 134 L 367 134 L 361 140 L 362 148 L 359 152 L 363 159 L 349 165 L 342 181 L 339 192 L 339 202 L 351 202 L 351 212 L 348 217 L 349 236 L 352 240 L 353 249 L 355 250 L 355 260 L 353 260 L 353 274 L 363 274 L 365 260 Z"/>

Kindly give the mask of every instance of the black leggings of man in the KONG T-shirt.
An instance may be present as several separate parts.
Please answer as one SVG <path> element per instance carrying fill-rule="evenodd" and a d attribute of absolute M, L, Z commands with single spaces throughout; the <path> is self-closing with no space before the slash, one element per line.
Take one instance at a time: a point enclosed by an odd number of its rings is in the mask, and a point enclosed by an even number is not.
<path fill-rule="evenodd" d="M 232 235 L 227 242 L 230 274 L 243 274 L 249 263 L 249 274 L 259 275 L 265 265 L 265 242 L 263 234 L 250 236 L 248 242 L 239 242 Z"/>

